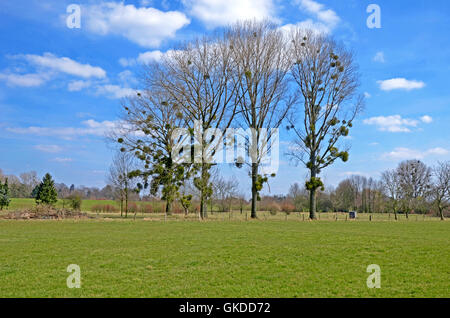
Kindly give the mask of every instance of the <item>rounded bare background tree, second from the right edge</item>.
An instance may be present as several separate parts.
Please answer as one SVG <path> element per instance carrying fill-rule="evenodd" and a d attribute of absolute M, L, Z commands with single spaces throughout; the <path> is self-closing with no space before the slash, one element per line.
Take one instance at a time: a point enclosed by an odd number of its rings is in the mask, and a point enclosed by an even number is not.
<path fill-rule="evenodd" d="M 420 207 L 431 190 L 431 168 L 420 160 L 401 162 L 396 170 L 401 192 L 401 202 L 408 218 L 409 212 Z"/>

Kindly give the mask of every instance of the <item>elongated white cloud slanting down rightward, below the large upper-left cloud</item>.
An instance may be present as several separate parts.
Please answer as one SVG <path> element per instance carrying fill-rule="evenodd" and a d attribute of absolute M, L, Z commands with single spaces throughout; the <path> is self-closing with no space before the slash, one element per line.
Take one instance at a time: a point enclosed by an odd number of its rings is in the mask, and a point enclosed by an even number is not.
<path fill-rule="evenodd" d="M 17 57 L 22 56 L 18 55 Z M 26 54 L 23 55 L 23 58 L 31 64 L 59 73 L 66 73 L 83 78 L 106 77 L 106 72 L 100 67 L 81 64 L 68 57 L 57 57 L 52 53 L 44 53 L 42 56 Z"/>

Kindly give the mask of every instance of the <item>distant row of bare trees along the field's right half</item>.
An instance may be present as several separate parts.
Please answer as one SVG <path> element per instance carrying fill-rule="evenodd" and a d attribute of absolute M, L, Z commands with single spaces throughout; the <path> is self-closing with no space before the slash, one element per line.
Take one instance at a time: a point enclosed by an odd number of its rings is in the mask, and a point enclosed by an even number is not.
<path fill-rule="evenodd" d="M 304 186 L 291 185 L 286 196 L 263 197 L 265 211 L 307 211 L 309 193 Z M 320 212 L 434 214 L 444 219 L 450 208 L 450 162 L 428 167 L 420 160 L 401 162 L 381 173 L 380 180 L 353 175 L 334 189 L 319 191 Z"/>

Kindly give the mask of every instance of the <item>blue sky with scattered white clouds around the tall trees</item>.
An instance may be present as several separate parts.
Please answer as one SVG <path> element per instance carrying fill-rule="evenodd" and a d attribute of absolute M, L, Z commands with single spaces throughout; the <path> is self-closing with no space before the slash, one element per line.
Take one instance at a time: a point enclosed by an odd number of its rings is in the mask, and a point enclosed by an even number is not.
<path fill-rule="evenodd" d="M 80 28 L 68 27 L 70 4 L 81 8 Z M 370 4 L 380 9 L 379 28 L 367 23 Z M 379 178 L 406 159 L 450 159 L 448 0 L 15 0 L 0 3 L 0 169 L 104 186 L 114 153 L 105 132 L 140 65 L 238 19 L 314 28 L 354 52 L 365 108 L 346 140 L 348 162 L 325 169 L 325 184 Z M 307 170 L 284 155 L 290 140 L 282 132 L 265 193 L 304 184 Z M 221 169 L 249 187 L 245 169 Z"/>

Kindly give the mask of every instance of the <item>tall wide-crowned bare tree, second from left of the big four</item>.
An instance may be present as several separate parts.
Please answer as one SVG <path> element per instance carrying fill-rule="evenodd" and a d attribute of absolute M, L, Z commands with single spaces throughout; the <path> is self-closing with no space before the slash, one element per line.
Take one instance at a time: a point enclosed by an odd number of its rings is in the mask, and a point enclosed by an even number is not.
<path fill-rule="evenodd" d="M 163 59 L 161 87 L 182 108 L 193 139 L 194 185 L 200 191 L 200 215 L 207 217 L 212 195 L 210 169 L 222 132 L 235 115 L 239 99 L 228 41 L 220 35 L 193 41 Z"/>

